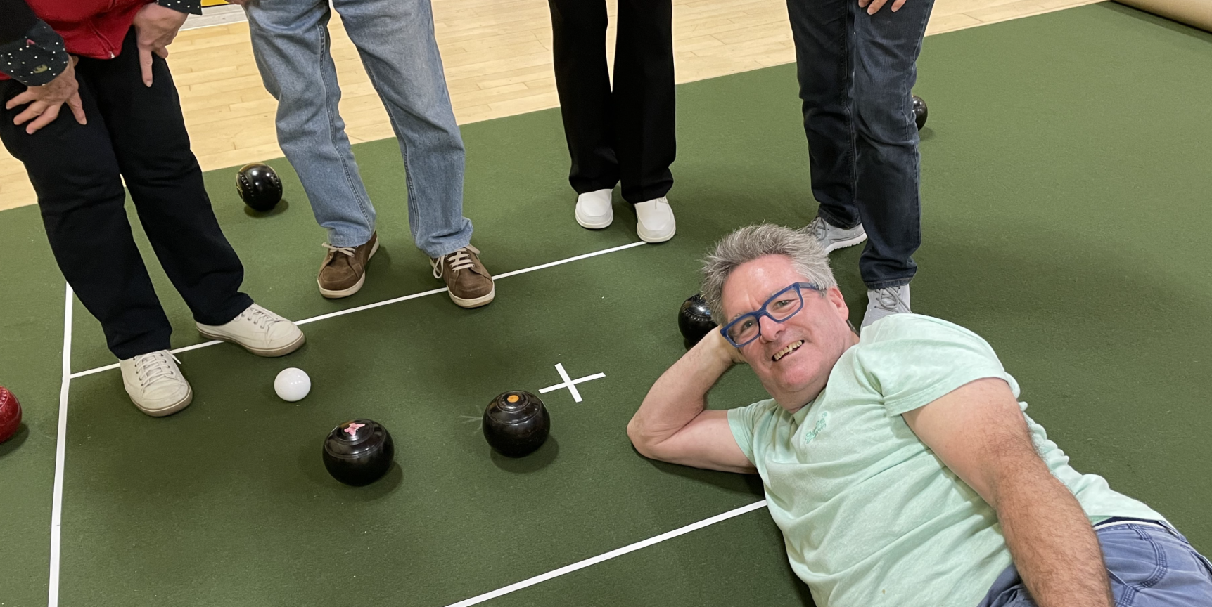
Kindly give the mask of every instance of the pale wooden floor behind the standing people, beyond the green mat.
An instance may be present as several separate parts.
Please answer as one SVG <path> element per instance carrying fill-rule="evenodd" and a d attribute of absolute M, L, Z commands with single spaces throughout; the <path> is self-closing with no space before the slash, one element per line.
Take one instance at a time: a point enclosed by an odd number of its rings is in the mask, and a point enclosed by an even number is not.
<path fill-rule="evenodd" d="M 909 0 L 914 1 L 914 0 Z M 927 35 L 1068 8 L 1098 0 L 937 0 Z M 614 2 L 611 1 L 611 16 Z M 544 0 L 433 0 L 438 42 L 459 124 L 559 105 L 551 23 Z M 607 48 L 613 52 L 613 28 Z M 276 102 L 265 92 L 242 22 L 183 30 L 168 62 L 194 153 L 204 170 L 281 156 Z M 785 0 L 674 0 L 679 82 L 795 61 Z M 378 96 L 332 24 L 332 55 L 353 142 L 390 137 Z M 0 149 L 0 210 L 35 201 L 24 168 Z"/>

